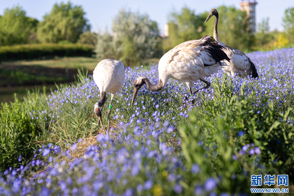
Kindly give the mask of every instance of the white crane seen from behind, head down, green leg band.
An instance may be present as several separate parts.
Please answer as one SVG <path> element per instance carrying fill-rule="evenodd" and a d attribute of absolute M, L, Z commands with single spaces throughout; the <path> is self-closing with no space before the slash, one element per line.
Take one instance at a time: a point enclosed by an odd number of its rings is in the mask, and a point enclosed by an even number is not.
<path fill-rule="evenodd" d="M 102 128 L 104 129 L 102 122 L 102 109 L 104 103 L 107 100 L 108 92 L 111 92 L 111 100 L 108 108 L 108 134 L 109 134 L 109 115 L 112 109 L 112 101 L 114 95 L 121 89 L 123 86 L 125 77 L 125 66 L 119 60 L 113 59 L 104 59 L 101 60 L 93 71 L 93 79 L 95 84 L 100 90 L 100 99 L 99 102 L 96 102 L 94 106 L 94 113 L 98 116 L 99 124 L 101 121 Z M 106 134 L 106 131 L 105 131 Z"/>

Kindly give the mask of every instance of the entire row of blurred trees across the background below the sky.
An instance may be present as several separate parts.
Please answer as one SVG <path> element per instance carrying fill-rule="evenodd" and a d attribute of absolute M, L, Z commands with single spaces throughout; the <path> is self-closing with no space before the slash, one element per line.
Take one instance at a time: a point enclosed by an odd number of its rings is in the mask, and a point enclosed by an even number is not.
<path fill-rule="evenodd" d="M 263 18 L 255 35 L 250 32 L 246 12 L 234 6 L 220 6 L 216 9 L 219 13 L 218 36 L 232 48 L 249 52 L 293 47 L 294 7 L 285 10 L 284 31 L 270 31 L 269 18 Z M 179 11 L 172 11 L 168 15 L 169 35 L 161 37 L 156 21 L 139 12 L 121 10 L 113 19 L 112 32 L 106 30 L 94 33 L 90 31 L 82 6 L 73 5 L 70 1 L 54 4 L 51 12 L 40 22 L 27 17 L 20 6 L 15 6 L 5 9 L 3 16 L 0 16 L 0 46 L 28 43 L 86 44 L 95 48 L 98 60 L 117 58 L 126 66 L 145 65 L 158 62 L 162 54 L 182 42 L 213 35 L 214 17 L 204 23 L 208 15 L 208 11 L 196 13 L 186 6 Z M 54 50 L 56 54 L 59 53 L 57 46 Z"/>

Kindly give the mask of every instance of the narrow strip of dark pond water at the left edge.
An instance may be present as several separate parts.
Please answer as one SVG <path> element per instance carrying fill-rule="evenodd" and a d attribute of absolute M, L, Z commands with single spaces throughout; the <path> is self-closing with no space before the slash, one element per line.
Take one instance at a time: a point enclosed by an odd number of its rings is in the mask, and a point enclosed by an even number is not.
<path fill-rule="evenodd" d="M 43 92 L 43 87 L 45 85 L 31 85 L 31 86 L 17 86 L 17 87 L 0 87 L 0 103 L 1 102 L 14 102 L 14 93 L 17 94 L 19 100 L 22 100 L 23 97 L 26 97 L 27 90 L 33 92 L 33 90 L 40 90 Z M 52 91 L 56 90 L 55 85 L 46 85 L 46 94 L 50 94 Z"/>

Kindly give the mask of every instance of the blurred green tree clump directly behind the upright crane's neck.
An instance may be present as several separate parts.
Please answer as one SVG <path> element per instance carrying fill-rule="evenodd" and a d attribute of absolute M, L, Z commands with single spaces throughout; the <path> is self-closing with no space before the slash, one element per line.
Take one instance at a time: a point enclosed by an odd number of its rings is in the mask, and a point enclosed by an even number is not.
<path fill-rule="evenodd" d="M 218 36 L 230 47 L 248 50 L 254 42 L 254 36 L 249 30 L 249 19 L 245 12 L 234 6 L 220 6 Z M 204 23 L 209 12 L 196 14 L 194 10 L 183 7 L 181 11 L 172 12 L 168 18 L 169 37 L 163 41 L 165 51 L 179 43 L 200 39 L 204 35 L 213 35 L 214 17 Z"/>

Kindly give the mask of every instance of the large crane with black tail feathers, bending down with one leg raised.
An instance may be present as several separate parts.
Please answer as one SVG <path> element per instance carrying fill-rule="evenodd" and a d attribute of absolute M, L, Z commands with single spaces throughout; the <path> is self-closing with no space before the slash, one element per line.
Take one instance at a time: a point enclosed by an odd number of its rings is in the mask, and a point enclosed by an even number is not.
<path fill-rule="evenodd" d="M 224 47 L 219 45 L 211 36 L 203 36 L 200 40 L 190 40 L 177 45 L 175 48 L 165 53 L 158 63 L 159 80 L 156 86 L 152 86 L 146 76 L 138 77 L 134 82 L 134 94 L 132 106 L 138 90 L 146 84 L 147 88 L 153 92 L 160 91 L 166 85 L 169 78 L 186 82 L 190 90 L 191 97 L 201 89 L 210 87 L 210 83 L 204 77 L 220 70 L 225 65 L 222 60 L 230 59 L 223 52 Z M 196 80 L 206 83 L 206 86 L 192 93 L 192 84 Z M 194 103 L 192 99 L 192 103 Z"/>

